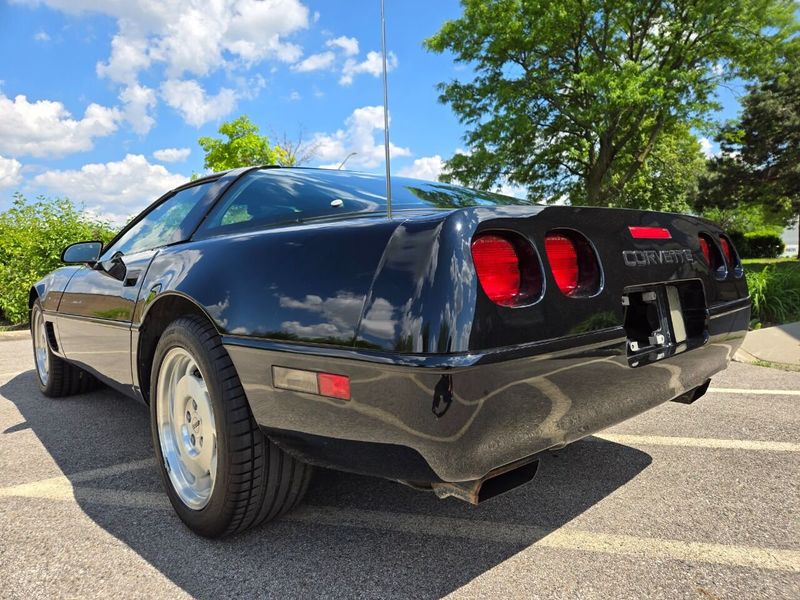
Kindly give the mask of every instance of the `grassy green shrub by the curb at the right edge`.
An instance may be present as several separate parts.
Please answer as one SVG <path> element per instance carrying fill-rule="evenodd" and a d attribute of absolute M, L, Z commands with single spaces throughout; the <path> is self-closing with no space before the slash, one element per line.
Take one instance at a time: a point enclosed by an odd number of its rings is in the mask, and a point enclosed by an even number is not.
<path fill-rule="evenodd" d="M 764 325 L 800 321 L 800 264 L 747 271 L 753 320 Z"/>

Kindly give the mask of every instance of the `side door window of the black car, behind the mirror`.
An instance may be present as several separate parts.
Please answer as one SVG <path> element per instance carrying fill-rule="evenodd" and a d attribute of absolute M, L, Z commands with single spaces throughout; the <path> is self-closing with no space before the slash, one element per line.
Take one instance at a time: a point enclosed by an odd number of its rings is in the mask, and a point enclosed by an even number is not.
<path fill-rule="evenodd" d="M 108 260 L 118 252 L 133 254 L 181 241 L 186 217 L 211 185 L 213 182 L 202 183 L 175 193 L 128 229 L 103 253 L 101 260 Z"/>

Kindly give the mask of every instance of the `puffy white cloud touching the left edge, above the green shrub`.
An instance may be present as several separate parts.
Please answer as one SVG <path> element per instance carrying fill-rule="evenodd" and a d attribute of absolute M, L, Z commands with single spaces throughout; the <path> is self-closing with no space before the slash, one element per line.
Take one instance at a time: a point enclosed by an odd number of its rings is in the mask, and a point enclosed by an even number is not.
<path fill-rule="evenodd" d="M 59 157 L 91 150 L 94 138 L 117 130 L 122 113 L 99 104 L 75 119 L 61 102 L 25 96 L 13 100 L 0 92 L 0 152 L 15 156 Z"/>

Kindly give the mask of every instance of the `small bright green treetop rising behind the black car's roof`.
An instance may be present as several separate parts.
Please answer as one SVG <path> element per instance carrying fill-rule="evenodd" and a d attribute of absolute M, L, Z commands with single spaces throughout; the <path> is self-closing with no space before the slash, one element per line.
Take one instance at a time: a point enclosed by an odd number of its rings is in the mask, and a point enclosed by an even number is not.
<path fill-rule="evenodd" d="M 197 140 L 206 153 L 203 166 L 211 171 L 256 165 L 294 166 L 298 162 L 291 147 L 271 145 L 269 138 L 260 135 L 258 125 L 247 115 L 223 123 L 218 131 L 224 139 L 201 137 Z"/>

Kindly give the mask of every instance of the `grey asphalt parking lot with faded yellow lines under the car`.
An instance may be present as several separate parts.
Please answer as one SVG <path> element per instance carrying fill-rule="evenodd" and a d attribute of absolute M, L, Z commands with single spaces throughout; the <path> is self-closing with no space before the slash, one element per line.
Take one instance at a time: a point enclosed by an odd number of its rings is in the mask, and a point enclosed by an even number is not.
<path fill-rule="evenodd" d="M 318 471 L 300 510 L 208 541 L 143 405 L 49 400 L 32 368 L 0 337 L 2 598 L 800 598 L 800 372 L 735 363 L 477 508 Z"/>

